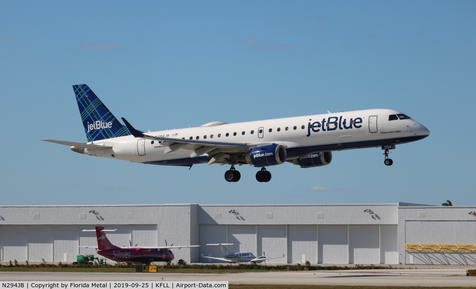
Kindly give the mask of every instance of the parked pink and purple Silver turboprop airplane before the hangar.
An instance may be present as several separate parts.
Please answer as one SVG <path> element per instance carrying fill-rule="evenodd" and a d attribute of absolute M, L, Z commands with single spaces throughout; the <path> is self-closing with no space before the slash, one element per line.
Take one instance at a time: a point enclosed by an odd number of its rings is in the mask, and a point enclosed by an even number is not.
<path fill-rule="evenodd" d="M 104 227 L 96 227 L 95 230 L 83 230 L 83 231 L 96 231 L 96 237 L 98 238 L 98 246 L 79 246 L 83 248 L 96 248 L 97 253 L 106 258 L 112 259 L 118 262 L 139 262 L 144 264 L 150 264 L 151 262 L 167 262 L 170 263 L 174 258 L 174 253 L 170 251 L 172 248 L 190 248 L 200 247 L 194 246 L 140 246 L 140 247 L 118 247 L 111 244 L 106 237 Z M 173 244 L 172 244 L 173 245 Z"/>

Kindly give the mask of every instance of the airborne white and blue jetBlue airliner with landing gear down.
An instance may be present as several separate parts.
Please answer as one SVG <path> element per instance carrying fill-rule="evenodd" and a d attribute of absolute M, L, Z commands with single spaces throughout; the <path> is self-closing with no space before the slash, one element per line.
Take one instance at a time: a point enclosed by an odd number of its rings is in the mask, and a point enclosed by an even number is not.
<path fill-rule="evenodd" d="M 71 146 L 86 155 L 154 165 L 228 164 L 225 179 L 236 182 L 236 165 L 261 168 L 290 162 L 301 168 L 328 165 L 332 151 L 381 147 L 385 165 L 395 145 L 426 138 L 425 126 L 397 110 L 357 110 L 239 123 L 212 121 L 196 128 L 143 132 L 122 125 L 85 84 L 73 85 L 87 143 L 45 140 Z"/>

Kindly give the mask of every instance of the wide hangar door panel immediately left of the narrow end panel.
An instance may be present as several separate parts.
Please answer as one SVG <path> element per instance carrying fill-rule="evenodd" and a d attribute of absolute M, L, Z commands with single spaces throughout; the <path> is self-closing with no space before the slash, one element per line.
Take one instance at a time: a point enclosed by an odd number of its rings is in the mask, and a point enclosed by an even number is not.
<path fill-rule="evenodd" d="M 378 264 L 378 226 L 349 226 L 349 249 L 350 264 Z"/>

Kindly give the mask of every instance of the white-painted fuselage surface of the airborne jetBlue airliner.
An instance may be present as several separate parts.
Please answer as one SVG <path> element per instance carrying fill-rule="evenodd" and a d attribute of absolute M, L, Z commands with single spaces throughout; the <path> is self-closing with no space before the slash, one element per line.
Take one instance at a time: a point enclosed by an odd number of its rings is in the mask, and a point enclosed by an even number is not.
<path fill-rule="evenodd" d="M 312 150 L 298 156 L 288 153 L 288 159 L 293 159 L 319 151 L 379 147 L 383 144 L 389 144 L 390 140 L 394 139 L 400 140 L 393 142 L 395 144 L 406 143 L 423 139 L 429 135 L 429 131 L 415 120 L 388 120 L 389 115 L 400 113 L 401 112 L 396 110 L 387 109 L 357 110 L 275 120 L 230 123 L 218 126 L 163 130 L 147 134 L 177 139 L 185 138 L 185 140 L 189 140 L 190 137 L 192 137 L 193 140 L 197 140 L 198 137 L 198 140 L 217 142 L 248 144 L 276 143 L 284 145 L 288 150 L 299 147 L 336 144 L 338 146 L 332 149 Z M 332 120 L 332 123 L 327 127 L 328 120 Z M 346 120 L 345 124 L 344 120 Z M 354 123 L 351 123 L 351 120 L 353 120 Z M 372 121 L 372 123 L 369 123 L 369 121 Z M 374 121 L 377 121 L 377 124 L 375 124 Z M 310 128 L 312 124 L 314 125 Z M 318 127 L 319 124 L 320 127 Z M 296 127 L 296 130 L 294 127 Z M 263 128 L 261 133 L 259 132 L 260 128 Z M 271 132 L 269 131 L 270 129 L 272 130 Z M 253 134 L 251 134 L 252 130 L 254 131 Z M 227 133 L 228 137 L 226 136 Z M 235 133 L 236 135 L 234 135 Z M 218 135 L 220 135 L 220 137 L 218 137 Z M 204 136 L 207 138 L 205 139 Z M 414 139 L 412 139 L 412 137 Z M 138 151 L 138 140 L 140 139 L 129 135 L 89 142 L 88 144 L 111 146 L 112 148 L 107 150 L 87 149 L 87 152 L 100 157 L 141 163 L 189 158 L 193 152 L 193 150 L 189 149 L 178 149 L 165 154 L 164 151 L 168 148 L 167 146 L 159 144 L 157 140 L 153 141 L 153 144 L 151 140 L 145 140 L 144 154 L 141 150 Z M 139 153 L 142 155 L 139 155 Z M 114 157 L 112 155 L 114 155 Z"/>

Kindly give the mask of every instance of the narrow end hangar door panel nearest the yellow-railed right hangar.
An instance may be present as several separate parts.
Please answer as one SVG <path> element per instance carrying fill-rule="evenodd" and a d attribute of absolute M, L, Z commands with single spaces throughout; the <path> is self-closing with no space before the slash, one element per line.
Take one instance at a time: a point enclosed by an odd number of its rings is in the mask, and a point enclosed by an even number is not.
<path fill-rule="evenodd" d="M 380 264 L 398 264 L 398 226 L 380 225 Z"/>

